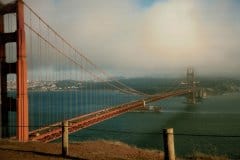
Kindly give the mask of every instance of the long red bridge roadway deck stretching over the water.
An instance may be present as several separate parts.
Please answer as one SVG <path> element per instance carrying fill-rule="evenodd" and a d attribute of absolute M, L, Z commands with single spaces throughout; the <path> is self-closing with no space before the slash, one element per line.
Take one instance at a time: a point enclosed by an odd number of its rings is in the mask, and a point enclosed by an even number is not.
<path fill-rule="evenodd" d="M 80 129 L 87 128 L 94 124 L 100 123 L 104 120 L 126 113 L 130 110 L 142 107 L 144 105 L 144 101 L 145 103 L 151 103 L 151 102 L 159 101 L 169 97 L 189 94 L 191 92 L 192 92 L 191 89 L 182 89 L 182 90 L 177 90 L 172 92 L 155 94 L 153 96 L 140 99 L 137 101 L 121 104 L 119 106 L 115 106 L 107 109 L 102 109 L 86 115 L 81 115 L 68 120 L 69 122 L 68 132 L 69 134 L 74 133 L 76 131 L 79 131 Z M 56 140 L 61 136 L 62 136 L 61 122 L 31 131 L 29 133 L 29 138 L 31 141 L 41 141 L 45 143 Z"/>

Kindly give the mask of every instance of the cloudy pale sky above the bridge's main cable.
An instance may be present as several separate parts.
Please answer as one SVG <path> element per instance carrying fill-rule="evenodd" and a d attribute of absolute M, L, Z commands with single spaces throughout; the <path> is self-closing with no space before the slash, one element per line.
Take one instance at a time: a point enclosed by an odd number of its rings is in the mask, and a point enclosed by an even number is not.
<path fill-rule="evenodd" d="M 240 77 L 239 0 L 25 0 L 114 76 Z"/>

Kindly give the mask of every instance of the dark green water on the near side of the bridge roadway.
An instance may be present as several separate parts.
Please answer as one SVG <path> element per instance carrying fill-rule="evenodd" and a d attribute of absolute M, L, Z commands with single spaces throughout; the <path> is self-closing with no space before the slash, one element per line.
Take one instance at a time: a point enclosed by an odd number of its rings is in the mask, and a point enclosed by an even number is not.
<path fill-rule="evenodd" d="M 174 128 L 176 134 L 188 134 L 175 135 L 177 155 L 203 152 L 240 159 L 240 94 L 212 96 L 196 105 L 185 102 L 184 97 L 164 100 L 154 104 L 163 108 L 160 113 L 126 113 L 81 130 L 71 135 L 70 140 L 117 140 L 141 148 L 163 150 L 162 129 Z"/>

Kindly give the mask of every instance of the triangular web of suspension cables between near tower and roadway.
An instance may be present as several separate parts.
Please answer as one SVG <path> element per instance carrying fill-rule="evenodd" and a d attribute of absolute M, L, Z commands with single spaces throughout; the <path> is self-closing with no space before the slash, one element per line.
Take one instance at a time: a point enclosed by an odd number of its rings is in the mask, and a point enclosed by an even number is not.
<path fill-rule="evenodd" d="M 107 75 L 27 4 L 25 29 L 30 126 L 49 125 L 143 95 Z"/>

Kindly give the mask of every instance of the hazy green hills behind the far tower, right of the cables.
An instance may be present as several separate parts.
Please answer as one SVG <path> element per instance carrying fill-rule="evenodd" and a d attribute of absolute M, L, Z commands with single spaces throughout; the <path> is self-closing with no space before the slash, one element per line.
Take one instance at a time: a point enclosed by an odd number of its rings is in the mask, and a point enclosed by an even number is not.
<path fill-rule="evenodd" d="M 181 88 L 181 80 L 176 78 L 131 78 L 121 82 L 148 94 Z M 184 81 L 184 80 L 183 80 Z M 205 88 L 208 94 L 223 94 L 240 91 L 240 80 L 230 78 L 198 78 L 197 86 Z"/>

